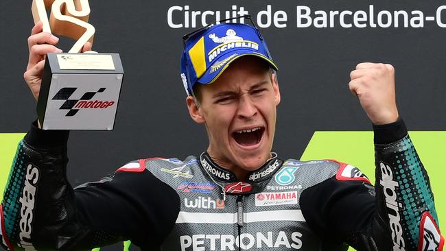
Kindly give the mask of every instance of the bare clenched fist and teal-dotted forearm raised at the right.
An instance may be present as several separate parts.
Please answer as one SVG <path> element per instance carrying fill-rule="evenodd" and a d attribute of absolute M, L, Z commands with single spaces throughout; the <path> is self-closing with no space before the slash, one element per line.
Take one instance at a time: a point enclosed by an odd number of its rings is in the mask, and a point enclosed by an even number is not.
<path fill-rule="evenodd" d="M 357 64 L 350 76 L 350 90 L 374 124 L 373 232 L 379 250 L 443 250 L 445 240 L 438 229 L 427 171 L 406 125 L 398 119 L 395 69 L 390 64 L 366 62 Z"/>

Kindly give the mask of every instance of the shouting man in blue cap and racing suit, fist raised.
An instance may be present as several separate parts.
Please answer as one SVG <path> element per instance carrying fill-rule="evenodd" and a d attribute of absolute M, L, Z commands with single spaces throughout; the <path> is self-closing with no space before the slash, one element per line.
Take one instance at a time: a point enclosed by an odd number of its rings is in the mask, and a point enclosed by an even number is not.
<path fill-rule="evenodd" d="M 58 51 L 57 38 L 40 31 L 38 23 L 25 72 L 36 99 L 43 56 Z M 207 152 L 134 160 L 73 190 L 68 132 L 34 123 L 2 202 L 4 246 L 81 250 L 130 239 L 143 250 L 443 250 L 427 174 L 399 119 L 392 66 L 358 64 L 349 84 L 374 124 L 373 188 L 351 165 L 271 152 L 281 95 L 255 27 L 226 23 L 186 36 L 181 65 Z"/>

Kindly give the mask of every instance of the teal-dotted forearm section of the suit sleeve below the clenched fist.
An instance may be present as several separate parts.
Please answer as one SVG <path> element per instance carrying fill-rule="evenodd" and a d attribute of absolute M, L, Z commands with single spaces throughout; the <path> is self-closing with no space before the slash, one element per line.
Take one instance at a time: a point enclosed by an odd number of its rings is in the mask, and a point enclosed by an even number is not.
<path fill-rule="evenodd" d="M 399 120 L 389 125 L 375 125 L 374 130 L 376 216 L 373 228 L 378 247 L 380 250 L 443 250 L 444 239 L 438 229 L 429 176 L 406 125 Z M 427 221 L 432 221 L 436 230 L 427 226 Z M 427 232 L 436 236 L 426 239 Z"/>

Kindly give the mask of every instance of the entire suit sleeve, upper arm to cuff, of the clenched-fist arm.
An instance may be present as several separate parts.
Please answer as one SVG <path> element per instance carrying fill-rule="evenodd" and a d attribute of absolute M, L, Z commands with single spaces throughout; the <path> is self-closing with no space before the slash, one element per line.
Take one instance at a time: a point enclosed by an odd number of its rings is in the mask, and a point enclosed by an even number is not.
<path fill-rule="evenodd" d="M 406 125 L 399 119 L 374 131 L 375 187 L 332 177 L 305 190 L 301 208 L 307 224 L 321 239 L 356 250 L 442 250 L 429 178 Z M 427 219 L 434 226 L 428 240 Z"/>

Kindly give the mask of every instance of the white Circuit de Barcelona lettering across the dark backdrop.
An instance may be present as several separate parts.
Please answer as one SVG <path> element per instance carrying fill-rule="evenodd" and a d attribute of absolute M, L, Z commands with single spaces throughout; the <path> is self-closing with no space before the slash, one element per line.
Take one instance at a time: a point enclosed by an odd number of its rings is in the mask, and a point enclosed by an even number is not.
<path fill-rule="evenodd" d="M 266 5 L 255 14 L 237 5 L 232 5 L 231 10 L 193 10 L 189 5 L 174 5 L 167 10 L 167 24 L 171 28 L 196 28 L 246 14 L 251 14 L 261 28 L 423 28 L 427 25 L 446 28 L 446 5 L 438 6 L 434 13 L 425 13 L 423 10 L 383 10 L 376 5 L 358 10 L 314 10 L 306 5 L 279 10 Z M 244 23 L 243 19 L 235 21 Z"/>

